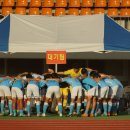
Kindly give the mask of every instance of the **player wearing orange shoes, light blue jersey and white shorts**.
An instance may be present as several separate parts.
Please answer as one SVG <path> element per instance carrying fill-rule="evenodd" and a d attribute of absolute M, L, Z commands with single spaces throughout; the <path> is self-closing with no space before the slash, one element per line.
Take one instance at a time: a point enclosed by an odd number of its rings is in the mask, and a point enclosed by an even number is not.
<path fill-rule="evenodd" d="M 96 101 L 98 97 L 98 84 L 97 82 L 100 80 L 100 75 L 96 71 L 92 71 L 90 73 L 90 77 L 88 77 L 88 74 L 85 72 L 84 69 L 81 70 L 82 76 L 84 79 L 82 80 L 83 87 L 86 90 L 85 96 L 87 96 L 87 106 L 85 113 L 82 115 L 83 117 L 89 116 L 89 110 L 92 103 L 92 109 L 90 117 L 94 117 L 94 112 L 96 109 Z"/>

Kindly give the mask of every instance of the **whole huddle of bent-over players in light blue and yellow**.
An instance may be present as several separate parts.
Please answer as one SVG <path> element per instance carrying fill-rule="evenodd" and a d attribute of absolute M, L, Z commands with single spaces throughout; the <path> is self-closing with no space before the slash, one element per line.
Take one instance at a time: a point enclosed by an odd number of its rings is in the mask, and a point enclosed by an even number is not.
<path fill-rule="evenodd" d="M 60 117 L 72 117 L 74 111 L 78 117 L 116 116 L 122 94 L 123 85 L 117 78 L 89 68 L 57 73 L 49 69 L 43 75 L 25 72 L 0 77 L 0 114 L 5 115 L 6 103 L 9 116 L 30 117 L 33 98 L 37 116 L 45 117 L 55 98 Z"/>

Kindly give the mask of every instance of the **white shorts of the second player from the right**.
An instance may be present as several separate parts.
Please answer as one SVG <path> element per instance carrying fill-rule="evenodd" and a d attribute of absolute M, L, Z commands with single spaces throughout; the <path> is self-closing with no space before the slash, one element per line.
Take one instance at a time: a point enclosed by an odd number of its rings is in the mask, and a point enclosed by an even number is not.
<path fill-rule="evenodd" d="M 108 94 L 109 94 L 109 87 L 103 87 L 99 89 L 99 98 L 108 98 Z"/>

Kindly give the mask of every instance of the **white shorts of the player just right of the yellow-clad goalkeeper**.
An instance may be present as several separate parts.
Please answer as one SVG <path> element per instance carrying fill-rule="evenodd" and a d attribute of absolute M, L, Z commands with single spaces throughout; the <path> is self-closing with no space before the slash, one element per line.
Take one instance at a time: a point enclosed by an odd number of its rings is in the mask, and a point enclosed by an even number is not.
<path fill-rule="evenodd" d="M 82 96 L 82 87 L 81 86 L 72 88 L 71 98 L 75 99 L 76 96 L 78 96 L 78 98 L 81 98 L 81 96 Z"/>

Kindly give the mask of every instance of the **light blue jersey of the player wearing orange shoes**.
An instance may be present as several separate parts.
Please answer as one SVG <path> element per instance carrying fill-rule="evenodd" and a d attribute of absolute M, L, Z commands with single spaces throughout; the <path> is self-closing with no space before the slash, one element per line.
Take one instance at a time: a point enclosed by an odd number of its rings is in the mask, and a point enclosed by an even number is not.
<path fill-rule="evenodd" d="M 86 90 L 89 90 L 93 87 L 97 87 L 98 84 L 95 80 L 93 80 L 92 78 L 90 77 L 87 77 L 85 79 L 82 80 L 82 84 L 83 84 L 83 87 L 86 89 Z"/>

